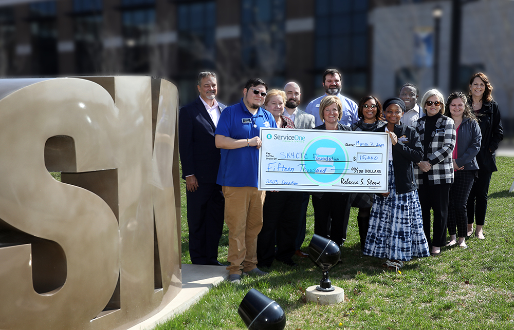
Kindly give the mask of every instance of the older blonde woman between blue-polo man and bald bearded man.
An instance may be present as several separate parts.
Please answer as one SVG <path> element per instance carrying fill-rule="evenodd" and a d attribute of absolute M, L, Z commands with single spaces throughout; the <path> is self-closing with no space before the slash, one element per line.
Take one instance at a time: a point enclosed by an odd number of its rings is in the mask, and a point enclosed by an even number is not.
<path fill-rule="evenodd" d="M 295 128 L 295 124 L 282 115 L 285 103 L 286 93 L 271 89 L 266 95 L 264 109 L 271 112 L 278 128 Z M 303 192 L 268 191 L 266 195 L 262 207 L 262 228 L 257 237 L 258 267 L 269 268 L 274 259 L 289 266 L 297 266 L 292 256 L 296 251 Z"/>

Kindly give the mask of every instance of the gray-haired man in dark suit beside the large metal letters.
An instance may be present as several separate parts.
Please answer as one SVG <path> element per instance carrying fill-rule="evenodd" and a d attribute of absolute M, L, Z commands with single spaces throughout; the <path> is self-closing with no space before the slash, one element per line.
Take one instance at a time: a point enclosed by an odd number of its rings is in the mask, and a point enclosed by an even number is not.
<path fill-rule="evenodd" d="M 178 114 L 178 150 L 182 179 L 186 180 L 189 255 L 197 265 L 222 265 L 218 244 L 222 236 L 225 200 L 216 184 L 221 159 L 214 131 L 225 105 L 215 99 L 216 74 L 198 74 L 200 96 Z"/>

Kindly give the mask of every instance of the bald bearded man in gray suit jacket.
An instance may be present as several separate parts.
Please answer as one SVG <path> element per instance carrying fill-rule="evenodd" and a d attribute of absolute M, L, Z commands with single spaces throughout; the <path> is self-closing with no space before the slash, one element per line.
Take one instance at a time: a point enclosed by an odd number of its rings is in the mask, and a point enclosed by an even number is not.
<path fill-rule="evenodd" d="M 284 91 L 286 92 L 287 102 L 283 114 L 295 123 L 295 128 L 313 129 L 314 126 L 316 126 L 314 116 L 298 109 L 302 96 L 300 86 L 295 82 L 289 82 L 284 86 Z M 301 218 L 298 219 L 299 229 L 298 236 L 296 238 L 296 255 L 302 258 L 308 257 L 306 253 L 303 253 L 302 250 L 300 250 L 300 247 L 305 240 L 305 226 L 307 221 L 309 197 L 309 193 L 303 193 L 302 215 Z"/>

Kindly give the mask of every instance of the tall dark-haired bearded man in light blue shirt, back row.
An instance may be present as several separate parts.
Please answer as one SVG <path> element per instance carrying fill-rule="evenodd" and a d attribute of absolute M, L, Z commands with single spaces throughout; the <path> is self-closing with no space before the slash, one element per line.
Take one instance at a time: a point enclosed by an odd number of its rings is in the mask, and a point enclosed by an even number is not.
<path fill-rule="evenodd" d="M 322 85 L 325 89 L 325 94 L 311 101 L 305 109 L 305 112 L 314 115 L 314 118 L 316 119 L 316 126 L 320 126 L 321 124 L 323 124 L 320 118 L 319 108 L 321 100 L 323 100 L 323 98 L 327 95 L 337 95 L 337 97 L 339 98 L 339 100 L 341 100 L 341 103 L 343 104 L 343 115 L 339 123 L 346 126 L 352 126 L 353 123 L 359 121 L 359 116 L 357 113 L 357 103 L 346 98 L 346 96 L 340 94 L 341 82 L 342 75 L 338 70 L 326 69 L 323 73 Z"/>

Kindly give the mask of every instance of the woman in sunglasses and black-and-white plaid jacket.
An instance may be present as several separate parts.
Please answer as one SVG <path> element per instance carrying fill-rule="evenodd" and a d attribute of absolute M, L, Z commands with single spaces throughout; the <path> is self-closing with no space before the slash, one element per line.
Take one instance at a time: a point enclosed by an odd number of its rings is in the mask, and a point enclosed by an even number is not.
<path fill-rule="evenodd" d="M 448 199 L 453 183 L 452 152 L 455 147 L 455 125 L 443 115 L 443 94 L 431 89 L 423 95 L 421 107 L 427 115 L 417 121 L 416 130 L 423 145 L 423 160 L 416 167 L 419 202 L 423 227 L 431 255 L 438 256 L 446 245 Z M 433 239 L 430 239 L 430 210 L 434 212 Z"/>

